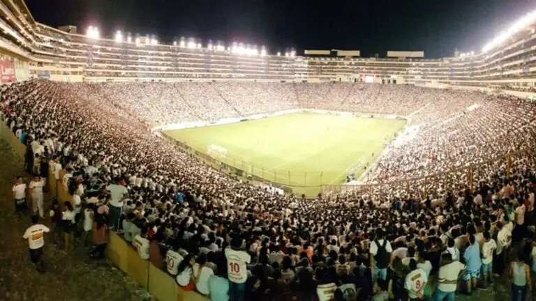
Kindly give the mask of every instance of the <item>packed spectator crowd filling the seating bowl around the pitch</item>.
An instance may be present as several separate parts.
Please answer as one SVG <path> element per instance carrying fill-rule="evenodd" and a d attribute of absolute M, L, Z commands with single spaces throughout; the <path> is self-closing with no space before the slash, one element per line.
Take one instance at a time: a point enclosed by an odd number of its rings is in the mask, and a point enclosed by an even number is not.
<path fill-rule="evenodd" d="M 304 199 L 211 169 L 148 126 L 298 107 L 404 116 L 419 132 L 389 146 L 371 185 Z M 323 301 L 454 300 L 507 272 L 512 296 L 525 296 L 535 113 L 523 100 L 415 86 L 30 81 L 3 86 L 0 117 L 34 175 L 29 194 L 17 179 L 15 209 L 31 200 L 66 252 L 91 235 L 102 257 L 110 229 L 211 300 Z M 45 210 L 46 180 L 72 201 Z"/>

